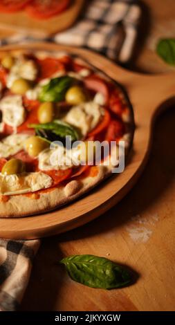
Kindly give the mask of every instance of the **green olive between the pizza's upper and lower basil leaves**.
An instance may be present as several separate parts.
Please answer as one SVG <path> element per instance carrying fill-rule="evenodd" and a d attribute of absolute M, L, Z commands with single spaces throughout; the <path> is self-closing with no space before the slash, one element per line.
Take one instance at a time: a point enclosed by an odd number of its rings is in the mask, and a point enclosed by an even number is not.
<path fill-rule="evenodd" d="M 55 107 L 52 102 L 44 102 L 39 106 L 37 111 L 37 117 L 39 123 L 49 123 L 52 122 L 55 115 Z"/>

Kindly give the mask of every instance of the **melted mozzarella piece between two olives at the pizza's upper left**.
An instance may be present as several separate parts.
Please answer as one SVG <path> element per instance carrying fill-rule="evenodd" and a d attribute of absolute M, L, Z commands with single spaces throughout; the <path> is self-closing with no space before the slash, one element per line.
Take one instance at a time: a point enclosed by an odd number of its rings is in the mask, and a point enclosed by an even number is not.
<path fill-rule="evenodd" d="M 11 88 L 13 82 L 19 78 L 34 81 L 37 73 L 38 69 L 33 60 L 20 57 L 10 69 L 6 82 L 7 87 Z"/>

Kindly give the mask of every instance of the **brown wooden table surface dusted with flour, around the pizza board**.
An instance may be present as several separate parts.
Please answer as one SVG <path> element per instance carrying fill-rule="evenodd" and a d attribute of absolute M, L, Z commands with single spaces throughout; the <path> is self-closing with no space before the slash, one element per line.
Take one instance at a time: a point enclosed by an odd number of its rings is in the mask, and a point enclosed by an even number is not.
<path fill-rule="evenodd" d="M 140 46 L 129 68 L 172 70 L 154 48 L 158 38 L 175 36 L 174 0 L 145 0 L 142 6 Z M 42 241 L 21 310 L 175 310 L 174 120 L 174 107 L 158 118 L 149 163 L 116 207 L 82 228 Z M 57 265 L 70 254 L 96 254 L 126 264 L 136 272 L 136 281 L 111 291 L 76 284 Z"/>

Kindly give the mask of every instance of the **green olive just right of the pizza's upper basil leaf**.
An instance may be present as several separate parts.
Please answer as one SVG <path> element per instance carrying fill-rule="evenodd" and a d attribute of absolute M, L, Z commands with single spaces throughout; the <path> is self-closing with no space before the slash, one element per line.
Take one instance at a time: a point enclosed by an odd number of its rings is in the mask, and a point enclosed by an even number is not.
<path fill-rule="evenodd" d="M 86 102 L 86 94 L 80 86 L 73 86 L 66 92 L 66 102 L 71 105 L 78 105 Z"/>

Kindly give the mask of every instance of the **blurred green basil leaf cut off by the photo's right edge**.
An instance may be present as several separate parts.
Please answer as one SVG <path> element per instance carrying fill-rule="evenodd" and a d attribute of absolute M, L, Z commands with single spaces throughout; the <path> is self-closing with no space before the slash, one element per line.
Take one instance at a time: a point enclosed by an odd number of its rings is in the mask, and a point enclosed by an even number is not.
<path fill-rule="evenodd" d="M 175 65 L 175 39 L 160 39 L 156 51 L 167 64 Z"/>

